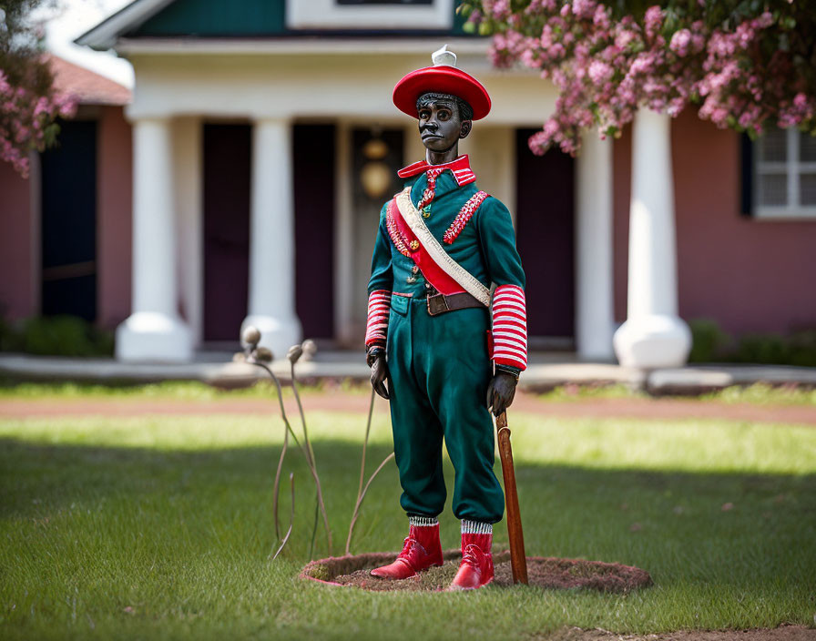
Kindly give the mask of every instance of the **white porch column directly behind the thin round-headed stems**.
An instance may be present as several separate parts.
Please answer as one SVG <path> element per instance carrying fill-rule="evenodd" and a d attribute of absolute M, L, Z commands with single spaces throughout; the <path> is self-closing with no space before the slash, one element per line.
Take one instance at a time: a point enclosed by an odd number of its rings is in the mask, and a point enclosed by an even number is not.
<path fill-rule="evenodd" d="M 301 321 L 295 314 L 292 189 L 291 123 L 282 118 L 259 119 L 252 131 L 250 309 L 241 331 L 247 325 L 257 327 L 260 344 L 275 358 L 284 357 L 301 341 Z M 314 233 L 327 232 L 315 229 Z"/>

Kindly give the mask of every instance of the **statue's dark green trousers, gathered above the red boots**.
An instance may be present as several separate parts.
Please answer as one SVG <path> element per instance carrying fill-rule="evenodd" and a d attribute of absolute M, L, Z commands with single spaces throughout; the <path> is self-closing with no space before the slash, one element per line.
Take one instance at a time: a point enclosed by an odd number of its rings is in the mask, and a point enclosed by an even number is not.
<path fill-rule="evenodd" d="M 428 314 L 424 298 L 394 295 L 388 324 L 393 447 L 409 515 L 436 516 L 446 497 L 442 442 L 454 463 L 454 515 L 496 523 L 505 512 L 485 408 L 493 365 L 486 309 Z"/>

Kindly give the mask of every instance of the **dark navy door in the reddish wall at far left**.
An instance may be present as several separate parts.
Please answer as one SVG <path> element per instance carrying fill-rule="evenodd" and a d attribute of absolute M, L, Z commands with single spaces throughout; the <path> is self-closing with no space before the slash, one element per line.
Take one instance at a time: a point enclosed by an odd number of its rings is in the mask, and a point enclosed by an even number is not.
<path fill-rule="evenodd" d="M 42 313 L 96 321 L 97 123 L 60 122 L 41 167 Z"/>

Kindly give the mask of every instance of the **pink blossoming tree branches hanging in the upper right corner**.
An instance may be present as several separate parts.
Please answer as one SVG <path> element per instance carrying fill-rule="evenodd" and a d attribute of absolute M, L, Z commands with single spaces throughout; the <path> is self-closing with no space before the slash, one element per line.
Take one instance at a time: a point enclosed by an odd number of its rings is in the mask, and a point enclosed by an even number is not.
<path fill-rule="evenodd" d="M 559 89 L 530 148 L 575 155 L 581 130 L 620 135 L 639 107 L 693 107 L 755 137 L 768 123 L 816 135 L 816 10 L 796 0 L 463 0 L 466 28 L 492 34 L 496 66 Z"/>

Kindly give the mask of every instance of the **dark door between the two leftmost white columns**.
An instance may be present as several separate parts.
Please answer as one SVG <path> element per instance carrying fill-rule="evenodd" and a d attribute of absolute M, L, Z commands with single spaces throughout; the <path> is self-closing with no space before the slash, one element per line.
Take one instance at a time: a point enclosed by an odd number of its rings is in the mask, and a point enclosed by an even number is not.
<path fill-rule="evenodd" d="M 204 340 L 237 341 L 250 276 L 249 125 L 204 125 Z"/>

